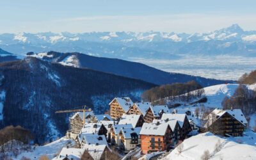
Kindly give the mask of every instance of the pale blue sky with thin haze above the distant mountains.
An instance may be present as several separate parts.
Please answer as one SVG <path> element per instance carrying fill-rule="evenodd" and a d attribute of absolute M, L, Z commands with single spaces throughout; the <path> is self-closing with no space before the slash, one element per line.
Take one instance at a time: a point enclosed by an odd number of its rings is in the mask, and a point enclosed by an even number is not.
<path fill-rule="evenodd" d="M 256 1 L 1 0 L 0 33 L 256 30 Z"/>

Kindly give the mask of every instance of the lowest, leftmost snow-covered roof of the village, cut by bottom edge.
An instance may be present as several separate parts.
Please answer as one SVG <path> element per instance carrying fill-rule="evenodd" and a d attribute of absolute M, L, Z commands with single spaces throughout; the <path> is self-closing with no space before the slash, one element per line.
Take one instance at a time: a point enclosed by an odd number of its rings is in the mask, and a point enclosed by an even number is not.
<path fill-rule="evenodd" d="M 81 156 L 83 155 L 83 153 L 84 153 L 83 148 L 66 148 L 66 147 L 63 147 L 61 149 L 60 154 L 56 158 L 56 160 L 62 160 L 65 157 L 67 157 L 68 159 L 79 160 L 79 159 L 81 159 Z"/>

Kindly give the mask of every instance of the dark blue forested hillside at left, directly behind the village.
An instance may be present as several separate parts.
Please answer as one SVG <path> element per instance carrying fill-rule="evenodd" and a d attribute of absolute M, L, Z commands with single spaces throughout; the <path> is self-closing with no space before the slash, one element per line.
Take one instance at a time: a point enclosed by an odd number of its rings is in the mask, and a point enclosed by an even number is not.
<path fill-rule="evenodd" d="M 70 114 L 55 111 L 74 109 L 84 104 L 102 113 L 116 96 L 130 96 L 156 86 L 136 79 L 115 76 L 86 68 L 65 67 L 36 58 L 0 63 L 1 127 L 20 125 L 29 129 L 37 143 L 63 136 Z M 102 98 L 103 97 L 103 98 Z M 94 105 L 94 106 L 93 106 Z M 1 112 L 1 108 L 0 108 Z"/>

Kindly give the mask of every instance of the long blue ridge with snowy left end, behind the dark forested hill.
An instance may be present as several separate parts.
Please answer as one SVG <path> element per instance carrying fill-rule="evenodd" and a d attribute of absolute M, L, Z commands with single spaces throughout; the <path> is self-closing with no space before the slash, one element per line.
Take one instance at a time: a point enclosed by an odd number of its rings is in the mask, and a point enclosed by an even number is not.
<path fill-rule="evenodd" d="M 61 53 L 51 51 L 38 54 L 29 52 L 28 56 L 33 56 L 45 61 L 51 61 L 52 63 L 60 63 L 61 65 L 79 68 L 91 68 L 93 70 L 99 70 L 101 72 L 108 72 L 120 76 L 140 79 L 158 85 L 197 81 L 202 86 L 211 86 L 214 84 L 221 84 L 226 82 L 217 79 L 190 76 L 187 74 L 164 72 L 142 63 L 119 60 L 116 58 L 100 58 L 81 54 L 79 52 Z"/>

